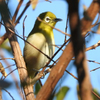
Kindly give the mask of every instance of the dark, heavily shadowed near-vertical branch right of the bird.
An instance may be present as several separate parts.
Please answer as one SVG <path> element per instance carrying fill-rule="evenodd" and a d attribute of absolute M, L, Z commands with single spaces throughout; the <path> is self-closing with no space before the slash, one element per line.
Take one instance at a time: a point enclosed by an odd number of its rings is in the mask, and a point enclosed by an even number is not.
<path fill-rule="evenodd" d="M 78 15 L 79 3 L 78 0 L 69 0 L 68 3 L 71 40 L 73 43 L 75 65 L 78 74 L 79 94 L 82 100 L 92 100 L 92 86 L 85 57 L 85 39 L 81 34 L 81 23 Z"/>

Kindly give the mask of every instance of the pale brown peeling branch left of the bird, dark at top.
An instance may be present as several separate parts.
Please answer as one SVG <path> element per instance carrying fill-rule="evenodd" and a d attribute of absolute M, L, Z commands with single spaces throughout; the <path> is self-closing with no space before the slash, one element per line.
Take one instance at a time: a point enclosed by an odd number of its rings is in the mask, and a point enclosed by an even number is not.
<path fill-rule="evenodd" d="M 10 41 L 10 45 L 11 45 L 13 55 L 15 58 L 15 63 L 18 68 L 19 77 L 20 77 L 20 80 L 22 83 L 26 80 L 28 74 L 27 74 L 25 62 L 24 62 L 19 44 L 17 42 L 17 38 L 9 30 L 9 29 L 11 29 L 12 31 L 14 31 L 14 26 L 11 24 L 12 22 L 11 22 L 11 19 L 9 16 L 9 9 L 4 0 L 0 0 L 0 13 L 1 13 L 4 25 L 5 25 L 6 33 L 8 35 L 9 41 Z M 20 18 L 18 18 L 18 19 L 20 19 Z M 24 92 L 25 92 L 26 100 L 32 100 L 32 99 L 34 100 L 33 86 L 30 85 L 30 86 L 24 87 Z"/>

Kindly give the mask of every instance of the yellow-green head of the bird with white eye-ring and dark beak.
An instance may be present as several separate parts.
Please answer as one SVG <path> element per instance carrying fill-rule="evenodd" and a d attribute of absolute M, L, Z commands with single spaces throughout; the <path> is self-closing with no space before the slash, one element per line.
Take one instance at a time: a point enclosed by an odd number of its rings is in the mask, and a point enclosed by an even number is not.
<path fill-rule="evenodd" d="M 56 18 L 52 12 L 44 12 L 38 16 L 34 28 L 39 28 L 43 31 L 51 31 L 55 24 L 61 20 L 60 18 Z"/>

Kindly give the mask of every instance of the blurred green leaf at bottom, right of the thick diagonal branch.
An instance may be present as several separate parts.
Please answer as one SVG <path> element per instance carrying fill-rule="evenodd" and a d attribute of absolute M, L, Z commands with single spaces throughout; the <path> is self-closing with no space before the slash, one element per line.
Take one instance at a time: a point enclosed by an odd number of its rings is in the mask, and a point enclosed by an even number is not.
<path fill-rule="evenodd" d="M 56 94 L 57 100 L 63 100 L 64 97 L 66 96 L 67 92 L 68 92 L 69 88 L 64 86 L 62 87 L 58 93 Z"/>

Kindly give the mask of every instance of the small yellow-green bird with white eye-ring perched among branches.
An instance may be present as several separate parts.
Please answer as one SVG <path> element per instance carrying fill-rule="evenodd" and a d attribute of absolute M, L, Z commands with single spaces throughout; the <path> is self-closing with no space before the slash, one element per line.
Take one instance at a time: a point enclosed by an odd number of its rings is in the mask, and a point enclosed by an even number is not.
<path fill-rule="evenodd" d="M 34 28 L 28 35 L 27 41 L 47 56 L 52 57 L 55 50 L 55 47 L 53 46 L 55 42 L 52 27 L 54 27 L 58 21 L 61 21 L 61 19 L 56 18 L 52 12 L 44 12 L 39 15 L 39 18 L 42 21 L 39 21 L 38 19 L 36 20 Z M 36 70 L 43 68 L 49 61 L 44 54 L 27 42 L 25 43 L 24 60 L 29 77 L 34 78 L 37 72 Z"/>

